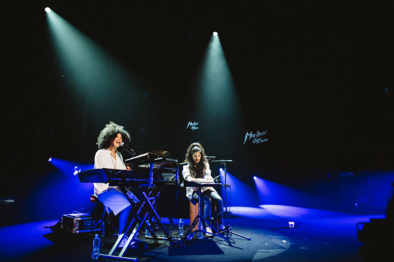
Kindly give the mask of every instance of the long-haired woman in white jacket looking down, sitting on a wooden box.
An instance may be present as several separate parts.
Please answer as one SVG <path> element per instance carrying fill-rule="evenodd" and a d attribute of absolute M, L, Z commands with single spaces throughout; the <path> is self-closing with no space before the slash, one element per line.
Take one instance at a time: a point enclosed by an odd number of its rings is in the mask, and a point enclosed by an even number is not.
<path fill-rule="evenodd" d="M 209 169 L 208 161 L 205 159 L 205 150 L 199 143 L 192 143 L 187 151 L 185 161 L 188 165 L 183 166 L 182 175 L 185 180 L 188 181 L 198 181 L 198 180 L 211 180 L 211 170 Z M 223 226 L 223 201 L 219 194 L 213 187 L 203 187 L 201 194 L 201 200 L 203 204 L 203 216 L 211 221 L 211 203 L 216 206 L 217 214 L 214 214 L 214 218 L 218 219 L 218 228 L 220 231 L 224 230 Z M 186 196 L 188 199 L 198 202 L 197 188 L 196 187 L 186 187 Z M 201 206 L 202 208 L 202 206 Z M 211 228 L 205 225 L 205 220 L 203 221 L 203 226 L 206 227 L 206 231 L 212 233 Z"/>

